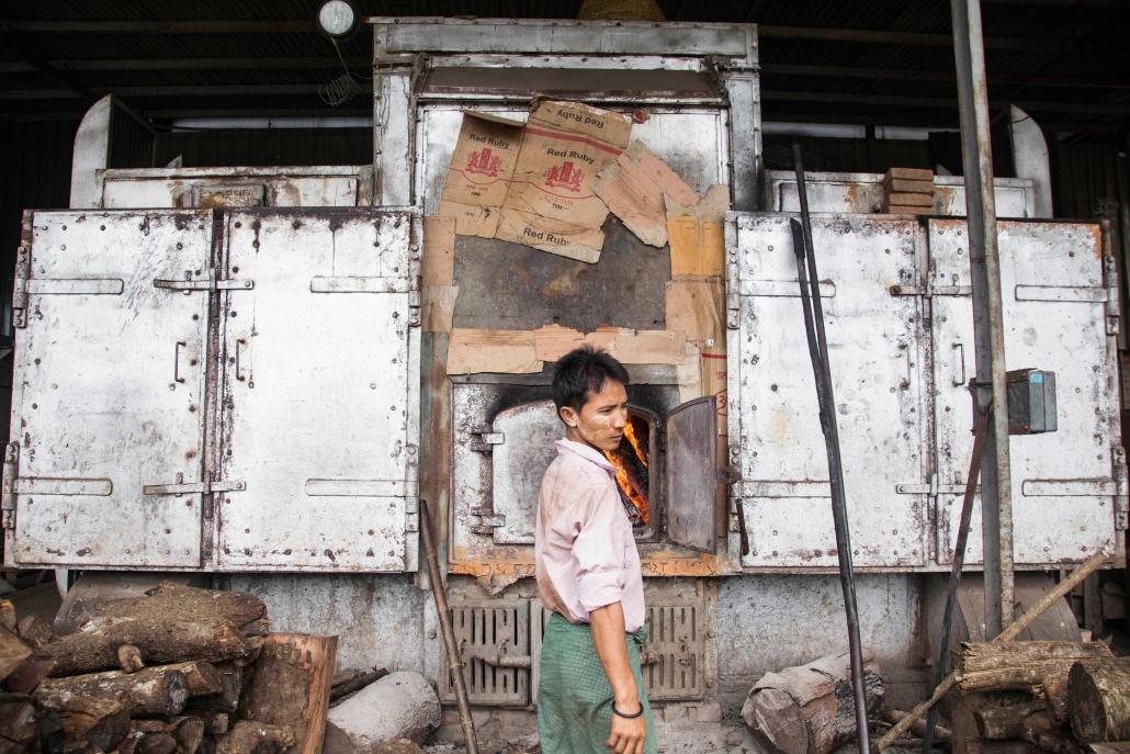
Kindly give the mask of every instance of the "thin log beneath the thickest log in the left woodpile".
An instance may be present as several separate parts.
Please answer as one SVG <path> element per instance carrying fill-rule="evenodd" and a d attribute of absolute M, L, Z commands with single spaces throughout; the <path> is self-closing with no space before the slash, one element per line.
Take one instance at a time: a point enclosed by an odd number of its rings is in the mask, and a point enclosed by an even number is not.
<path fill-rule="evenodd" d="M 33 694 L 35 702 L 47 709 L 61 709 L 70 700 L 82 697 L 116 700 L 131 717 L 177 714 L 184 709 L 189 690 L 183 673 L 157 666 L 131 674 L 111 670 L 47 679 Z"/>

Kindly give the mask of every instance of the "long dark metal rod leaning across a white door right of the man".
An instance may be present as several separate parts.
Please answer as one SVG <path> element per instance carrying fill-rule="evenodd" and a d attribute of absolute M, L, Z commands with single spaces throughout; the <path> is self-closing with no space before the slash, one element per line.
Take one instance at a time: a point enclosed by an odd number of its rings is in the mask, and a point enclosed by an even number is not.
<path fill-rule="evenodd" d="M 869 752 L 871 744 L 870 731 L 867 727 L 863 647 L 859 638 L 855 577 L 851 562 L 851 532 L 847 526 L 847 501 L 844 495 L 843 461 L 840 456 L 840 430 L 836 424 L 835 397 L 832 389 L 832 365 L 828 361 L 828 343 L 824 331 L 824 305 L 820 303 L 820 279 L 816 271 L 816 255 L 812 252 L 812 225 L 808 211 L 808 192 L 805 185 L 805 166 L 801 163 L 800 145 L 793 145 L 792 150 L 801 217 L 799 224 L 796 219 L 790 223 L 793 253 L 797 257 L 797 279 L 800 284 L 800 300 L 805 315 L 805 335 L 808 339 L 808 353 L 812 361 L 812 373 L 816 380 L 816 397 L 820 408 L 820 428 L 824 432 L 824 444 L 828 454 L 832 520 L 836 534 L 836 552 L 840 556 L 840 586 L 843 590 L 844 613 L 847 619 L 847 651 L 851 660 L 852 694 L 855 702 L 855 730 L 859 736 L 859 751 Z M 811 292 L 809 292 L 809 287 Z"/>

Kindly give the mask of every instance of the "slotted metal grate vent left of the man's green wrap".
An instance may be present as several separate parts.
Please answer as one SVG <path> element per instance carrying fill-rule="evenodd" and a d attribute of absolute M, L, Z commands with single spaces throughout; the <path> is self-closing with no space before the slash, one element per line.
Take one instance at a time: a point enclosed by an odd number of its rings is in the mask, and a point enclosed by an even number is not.
<path fill-rule="evenodd" d="M 472 704 L 524 707 L 530 701 L 530 604 L 528 600 L 483 600 L 452 606 L 451 623 L 463 657 L 467 693 Z M 441 659 L 441 667 L 446 660 Z M 440 699 L 454 702 L 450 673 Z"/>

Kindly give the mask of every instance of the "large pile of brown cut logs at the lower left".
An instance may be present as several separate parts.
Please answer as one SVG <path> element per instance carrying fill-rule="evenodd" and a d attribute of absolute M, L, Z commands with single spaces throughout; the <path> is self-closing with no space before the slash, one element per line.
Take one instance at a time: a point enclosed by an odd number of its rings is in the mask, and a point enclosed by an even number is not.
<path fill-rule="evenodd" d="M 318 754 L 337 638 L 268 626 L 253 595 L 171 582 L 64 636 L 0 609 L 0 754 Z"/>

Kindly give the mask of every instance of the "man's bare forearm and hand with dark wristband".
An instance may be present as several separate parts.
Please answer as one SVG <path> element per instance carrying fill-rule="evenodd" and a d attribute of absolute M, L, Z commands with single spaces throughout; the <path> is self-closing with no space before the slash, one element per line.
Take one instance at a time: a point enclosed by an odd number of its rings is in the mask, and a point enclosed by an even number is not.
<path fill-rule="evenodd" d="M 605 605 L 589 613 L 592 625 L 592 643 L 597 656 L 612 687 L 612 703 L 625 714 L 635 714 L 640 707 L 640 693 L 628 664 L 627 634 L 624 630 L 624 607 L 619 603 Z M 643 716 L 621 718 L 612 713 L 612 729 L 605 743 L 616 754 L 643 754 L 643 742 L 647 736 L 647 723 Z"/>

